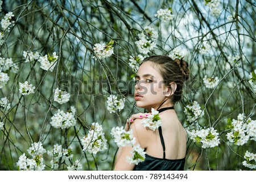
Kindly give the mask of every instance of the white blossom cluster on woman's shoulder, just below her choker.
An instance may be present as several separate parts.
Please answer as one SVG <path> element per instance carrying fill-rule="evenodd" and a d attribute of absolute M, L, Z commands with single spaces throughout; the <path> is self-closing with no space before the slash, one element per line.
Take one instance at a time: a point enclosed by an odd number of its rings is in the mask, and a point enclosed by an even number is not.
<path fill-rule="evenodd" d="M 151 108 L 151 115 L 148 115 L 147 118 L 144 118 L 141 121 L 144 128 L 149 128 L 153 131 L 159 128 L 162 125 L 161 118 L 159 117 L 159 112 L 154 108 Z"/>

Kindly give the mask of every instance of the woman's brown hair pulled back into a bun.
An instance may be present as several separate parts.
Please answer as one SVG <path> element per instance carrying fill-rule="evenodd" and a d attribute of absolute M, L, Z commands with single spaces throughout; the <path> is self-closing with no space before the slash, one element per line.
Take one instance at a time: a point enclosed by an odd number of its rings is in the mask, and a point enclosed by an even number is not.
<path fill-rule="evenodd" d="M 170 86 L 172 82 L 176 83 L 177 88 L 171 96 L 171 101 L 175 104 L 181 99 L 183 84 L 189 77 L 188 62 L 184 61 L 183 58 L 172 60 L 168 56 L 149 56 L 144 58 L 143 62 L 146 61 L 156 64 L 167 86 Z"/>

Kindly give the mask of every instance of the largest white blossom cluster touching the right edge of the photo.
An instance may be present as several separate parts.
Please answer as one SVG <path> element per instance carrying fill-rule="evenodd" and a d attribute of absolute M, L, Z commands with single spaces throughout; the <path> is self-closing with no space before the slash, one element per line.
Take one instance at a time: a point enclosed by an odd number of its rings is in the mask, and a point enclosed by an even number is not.
<path fill-rule="evenodd" d="M 256 141 L 256 120 L 251 120 L 251 118 L 245 117 L 244 114 L 239 114 L 237 120 L 228 119 L 227 128 L 230 132 L 226 134 L 229 142 L 235 145 L 244 145 L 249 141 L 249 139 Z"/>

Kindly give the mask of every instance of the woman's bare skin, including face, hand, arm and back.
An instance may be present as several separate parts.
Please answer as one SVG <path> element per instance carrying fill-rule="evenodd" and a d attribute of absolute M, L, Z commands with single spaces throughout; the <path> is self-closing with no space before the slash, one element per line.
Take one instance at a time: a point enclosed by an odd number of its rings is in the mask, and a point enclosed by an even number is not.
<path fill-rule="evenodd" d="M 176 85 L 170 83 L 170 87 L 167 87 L 160 84 L 153 84 L 160 83 L 163 78 L 150 62 L 145 62 L 139 67 L 137 79 L 138 84 L 135 86 L 135 100 L 137 101 L 138 107 L 151 111 L 151 108 L 160 109 L 173 106 L 170 96 L 174 93 Z M 154 81 L 151 81 L 151 79 L 154 79 Z M 144 90 L 151 91 L 150 89 L 154 90 L 154 92 L 144 92 Z M 158 108 L 164 100 L 167 101 Z M 146 118 L 149 114 L 137 113 L 132 115 L 126 122 L 125 130 L 133 130 L 133 136 L 136 139 L 135 145 L 139 144 L 148 155 L 163 158 L 163 147 L 158 129 L 152 131 L 144 128 L 141 124 L 143 118 Z M 159 113 L 159 116 L 162 120 L 163 138 L 166 143 L 166 159 L 183 159 L 187 149 L 187 133 L 177 118 L 175 110 L 163 111 Z M 119 148 L 114 170 L 133 170 L 135 164 L 130 164 L 126 160 L 127 156 L 131 156 L 131 149 L 131 146 Z"/>

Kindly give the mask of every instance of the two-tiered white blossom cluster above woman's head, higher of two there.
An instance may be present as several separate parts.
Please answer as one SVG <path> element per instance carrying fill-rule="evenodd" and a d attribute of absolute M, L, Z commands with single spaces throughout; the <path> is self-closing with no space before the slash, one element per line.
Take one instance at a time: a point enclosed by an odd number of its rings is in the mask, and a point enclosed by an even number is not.
<path fill-rule="evenodd" d="M 146 26 L 144 27 L 144 31 L 138 34 L 138 37 L 140 39 L 135 41 L 135 44 L 138 46 L 139 52 L 147 54 L 156 46 L 155 41 L 152 39 L 157 39 L 158 33 L 154 28 Z"/>

